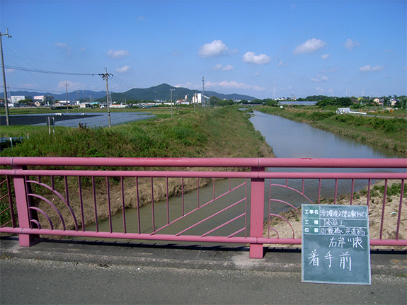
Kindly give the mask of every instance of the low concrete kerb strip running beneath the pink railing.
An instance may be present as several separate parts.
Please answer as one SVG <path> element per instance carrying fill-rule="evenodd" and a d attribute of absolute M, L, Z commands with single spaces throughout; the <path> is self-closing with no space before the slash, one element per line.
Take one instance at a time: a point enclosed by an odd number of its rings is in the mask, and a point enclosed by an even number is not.
<path fill-rule="evenodd" d="M 1 237 L 0 255 L 6 258 L 100 265 L 301 273 L 301 249 L 298 248 L 265 248 L 263 259 L 251 259 L 246 246 L 183 246 L 176 243 L 110 243 L 43 238 L 40 243 L 25 248 L 18 245 L 16 237 Z M 372 275 L 407 276 L 407 250 L 372 251 L 371 265 Z"/>

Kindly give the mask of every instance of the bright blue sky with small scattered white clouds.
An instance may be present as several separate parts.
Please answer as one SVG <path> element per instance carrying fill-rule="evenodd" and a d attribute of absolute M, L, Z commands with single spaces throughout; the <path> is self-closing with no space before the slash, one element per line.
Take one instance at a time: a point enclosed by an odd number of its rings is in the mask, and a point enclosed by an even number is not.
<path fill-rule="evenodd" d="M 0 1 L 10 91 L 407 94 L 407 1 Z M 39 73 L 55 71 L 66 74 Z M 77 74 L 95 74 L 77 75 Z M 1 86 L 2 87 L 2 86 Z M 174 92 L 174 94 L 176 94 Z M 168 93 L 169 96 L 169 93 Z"/>

